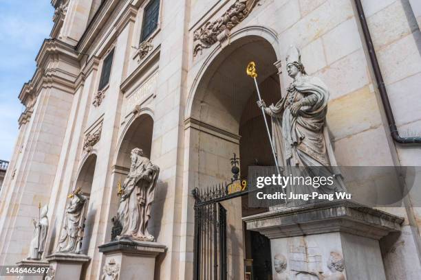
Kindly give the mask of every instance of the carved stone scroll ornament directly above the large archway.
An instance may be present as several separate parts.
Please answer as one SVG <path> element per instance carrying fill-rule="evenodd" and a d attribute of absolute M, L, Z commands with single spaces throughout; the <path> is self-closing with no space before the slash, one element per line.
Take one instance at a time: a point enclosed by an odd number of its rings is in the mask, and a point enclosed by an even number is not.
<path fill-rule="evenodd" d="M 199 52 L 202 54 L 202 49 L 208 49 L 217 41 L 225 44 L 230 36 L 230 30 L 246 19 L 258 1 L 237 0 L 219 19 L 208 21 L 203 27 L 196 30 L 193 34 L 195 42 L 193 56 Z"/>

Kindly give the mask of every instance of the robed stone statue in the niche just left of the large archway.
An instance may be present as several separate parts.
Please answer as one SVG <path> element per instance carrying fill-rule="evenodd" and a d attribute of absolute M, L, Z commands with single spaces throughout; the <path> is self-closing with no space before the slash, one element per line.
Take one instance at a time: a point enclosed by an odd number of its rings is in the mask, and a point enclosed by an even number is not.
<path fill-rule="evenodd" d="M 154 241 L 147 230 L 153 194 L 160 168 L 143 156 L 140 148 L 131 150 L 131 167 L 121 191 L 117 218 L 122 225 L 118 239 Z"/>

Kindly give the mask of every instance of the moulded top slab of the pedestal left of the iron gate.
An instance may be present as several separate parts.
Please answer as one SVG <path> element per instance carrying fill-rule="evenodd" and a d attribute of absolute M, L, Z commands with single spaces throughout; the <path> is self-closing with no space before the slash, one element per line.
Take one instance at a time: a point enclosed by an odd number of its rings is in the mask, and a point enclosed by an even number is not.
<path fill-rule="evenodd" d="M 157 256 L 166 251 L 166 246 L 156 242 L 117 240 L 98 246 L 101 253 L 131 253 Z"/>

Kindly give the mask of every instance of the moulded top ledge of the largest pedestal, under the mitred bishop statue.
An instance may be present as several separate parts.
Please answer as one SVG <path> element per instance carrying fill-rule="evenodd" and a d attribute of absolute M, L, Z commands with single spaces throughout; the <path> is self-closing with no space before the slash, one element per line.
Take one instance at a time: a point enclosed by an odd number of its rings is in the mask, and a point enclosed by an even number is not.
<path fill-rule="evenodd" d="M 379 240 L 400 231 L 404 221 L 396 215 L 355 202 L 319 202 L 243 218 L 247 229 L 270 239 L 319 233 L 343 232 Z"/>

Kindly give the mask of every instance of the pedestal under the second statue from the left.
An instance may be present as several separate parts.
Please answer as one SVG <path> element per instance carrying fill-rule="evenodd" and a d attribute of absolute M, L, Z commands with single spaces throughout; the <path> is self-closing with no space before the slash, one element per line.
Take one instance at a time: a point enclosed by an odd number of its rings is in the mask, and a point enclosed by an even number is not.
<path fill-rule="evenodd" d="M 46 259 L 50 263 L 50 275 L 54 275 L 54 279 L 80 279 L 83 264 L 91 258 L 82 254 L 54 253 Z"/>

